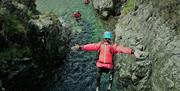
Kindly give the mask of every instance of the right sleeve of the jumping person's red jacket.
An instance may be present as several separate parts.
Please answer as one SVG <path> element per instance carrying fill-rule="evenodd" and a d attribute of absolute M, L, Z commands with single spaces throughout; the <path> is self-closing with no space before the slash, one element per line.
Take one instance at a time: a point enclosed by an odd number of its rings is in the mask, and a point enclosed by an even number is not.
<path fill-rule="evenodd" d="M 121 45 L 113 45 L 114 53 L 125 53 L 125 54 L 133 54 L 133 49 L 128 47 L 123 47 Z"/>

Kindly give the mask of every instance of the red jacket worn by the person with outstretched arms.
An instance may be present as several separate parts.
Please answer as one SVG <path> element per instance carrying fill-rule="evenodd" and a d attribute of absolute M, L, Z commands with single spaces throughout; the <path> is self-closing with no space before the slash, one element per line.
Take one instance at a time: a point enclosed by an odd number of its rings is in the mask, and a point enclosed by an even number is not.
<path fill-rule="evenodd" d="M 117 53 L 131 54 L 132 49 L 118 46 L 117 44 L 110 45 L 108 42 L 99 42 L 93 44 L 82 45 L 81 50 L 86 51 L 99 51 L 99 58 L 96 66 L 112 69 L 113 68 L 113 55 Z"/>

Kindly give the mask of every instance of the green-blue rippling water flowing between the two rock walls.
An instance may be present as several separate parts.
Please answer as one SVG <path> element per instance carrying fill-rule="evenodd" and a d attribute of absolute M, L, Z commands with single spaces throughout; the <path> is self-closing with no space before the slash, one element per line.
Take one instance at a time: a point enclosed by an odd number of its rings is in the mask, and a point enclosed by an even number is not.
<path fill-rule="evenodd" d="M 54 12 L 71 25 L 74 35 L 69 46 L 98 42 L 102 32 L 107 29 L 107 26 L 95 15 L 92 2 L 84 5 L 83 0 L 37 0 L 36 4 L 40 12 Z M 72 17 L 76 10 L 82 14 L 81 22 L 76 22 Z M 70 51 L 65 59 L 65 65 L 57 70 L 53 83 L 49 83 L 46 90 L 95 91 L 96 55 L 94 52 Z M 103 76 L 101 86 L 104 89 L 108 76 Z"/>

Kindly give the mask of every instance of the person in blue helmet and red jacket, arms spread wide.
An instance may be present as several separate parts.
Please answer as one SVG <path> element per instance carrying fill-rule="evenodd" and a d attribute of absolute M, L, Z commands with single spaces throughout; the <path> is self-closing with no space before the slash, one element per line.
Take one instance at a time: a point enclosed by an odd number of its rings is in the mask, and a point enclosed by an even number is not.
<path fill-rule="evenodd" d="M 139 58 L 142 55 L 140 51 L 134 51 L 132 48 L 123 47 L 121 45 L 117 45 L 111 42 L 112 32 L 106 31 L 104 32 L 103 41 L 99 43 L 90 43 L 85 45 L 75 45 L 71 49 L 76 50 L 84 50 L 84 51 L 97 51 L 98 52 L 98 60 L 96 61 L 97 67 L 97 77 L 96 77 L 96 91 L 99 91 L 100 88 L 100 78 L 102 73 L 109 74 L 109 85 L 108 91 L 112 89 L 113 82 L 113 74 L 114 74 L 114 63 L 113 63 L 113 55 L 118 53 L 124 54 L 134 54 L 136 58 Z"/>

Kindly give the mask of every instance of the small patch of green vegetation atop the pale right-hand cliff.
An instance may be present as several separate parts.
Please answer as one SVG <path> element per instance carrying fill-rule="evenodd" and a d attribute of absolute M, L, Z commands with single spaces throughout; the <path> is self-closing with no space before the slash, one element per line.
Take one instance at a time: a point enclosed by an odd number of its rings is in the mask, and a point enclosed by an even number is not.
<path fill-rule="evenodd" d="M 127 3 L 123 5 L 122 15 L 126 15 L 130 11 L 135 9 L 136 0 L 127 0 Z"/>

